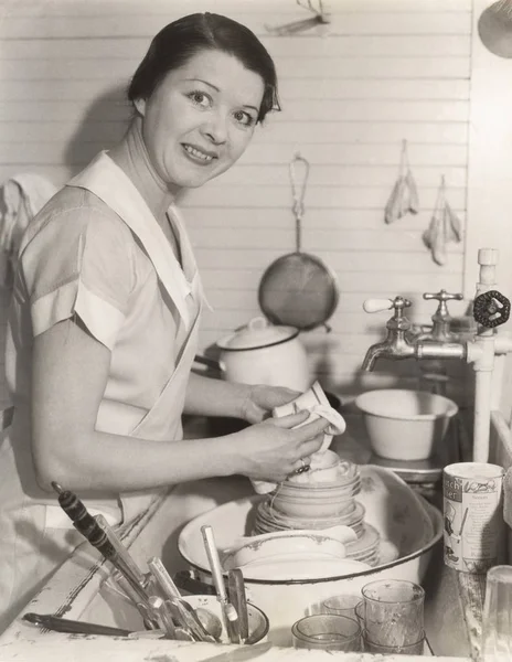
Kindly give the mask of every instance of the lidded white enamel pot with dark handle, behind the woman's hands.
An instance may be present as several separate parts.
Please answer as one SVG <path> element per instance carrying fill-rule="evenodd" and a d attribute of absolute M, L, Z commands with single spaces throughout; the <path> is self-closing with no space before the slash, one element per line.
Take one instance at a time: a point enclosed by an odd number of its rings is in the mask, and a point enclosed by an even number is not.
<path fill-rule="evenodd" d="M 311 376 L 298 335 L 295 327 L 274 325 L 257 317 L 217 341 L 218 362 L 203 356 L 195 361 L 218 367 L 228 382 L 287 386 L 302 393 L 311 385 Z"/>

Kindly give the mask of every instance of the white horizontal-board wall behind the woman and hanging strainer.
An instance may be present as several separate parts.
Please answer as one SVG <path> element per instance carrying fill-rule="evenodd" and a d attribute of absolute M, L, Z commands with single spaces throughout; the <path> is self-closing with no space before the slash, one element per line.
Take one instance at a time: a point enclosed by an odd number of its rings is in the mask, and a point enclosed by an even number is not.
<path fill-rule="evenodd" d="M 329 24 L 276 36 L 269 28 L 309 12 L 294 0 L 1 2 L 0 181 L 38 172 L 63 184 L 108 149 L 127 126 L 129 77 L 171 20 L 211 10 L 245 23 L 275 58 L 282 111 L 257 128 L 231 171 L 182 201 L 214 308 L 203 319 L 201 349 L 259 313 L 265 268 L 295 249 L 288 164 L 300 152 L 311 166 L 302 249 L 324 260 L 340 287 L 332 331 L 302 340 L 324 387 L 343 393 L 416 375 L 414 362 L 382 362 L 362 381 L 364 353 L 390 317 L 364 313 L 364 299 L 407 296 L 409 317 L 427 322 L 435 306 L 423 292 L 462 291 L 463 243 L 449 244 L 438 266 L 422 234 L 441 175 L 466 222 L 472 14 L 471 0 L 323 4 Z M 386 225 L 404 139 L 420 211 Z"/>

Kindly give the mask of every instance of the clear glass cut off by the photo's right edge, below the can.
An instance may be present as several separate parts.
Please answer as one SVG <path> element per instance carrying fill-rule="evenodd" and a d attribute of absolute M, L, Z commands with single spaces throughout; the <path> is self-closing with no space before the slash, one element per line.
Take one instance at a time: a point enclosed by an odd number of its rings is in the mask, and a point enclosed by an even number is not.
<path fill-rule="evenodd" d="M 512 660 L 512 566 L 499 565 L 487 574 L 482 617 L 482 662 Z"/>

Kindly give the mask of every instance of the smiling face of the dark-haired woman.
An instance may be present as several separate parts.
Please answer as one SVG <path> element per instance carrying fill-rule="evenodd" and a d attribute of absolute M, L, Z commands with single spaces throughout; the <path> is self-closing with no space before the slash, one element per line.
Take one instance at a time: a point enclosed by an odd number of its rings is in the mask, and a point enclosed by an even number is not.
<path fill-rule="evenodd" d="M 223 51 L 201 51 L 169 72 L 136 102 L 158 177 L 196 188 L 225 172 L 253 136 L 263 94 L 262 77 Z"/>

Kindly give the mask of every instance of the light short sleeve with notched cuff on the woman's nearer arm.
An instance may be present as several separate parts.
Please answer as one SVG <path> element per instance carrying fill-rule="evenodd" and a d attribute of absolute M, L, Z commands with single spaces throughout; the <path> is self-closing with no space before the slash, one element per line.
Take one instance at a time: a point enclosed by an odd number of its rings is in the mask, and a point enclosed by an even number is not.
<path fill-rule="evenodd" d="M 81 318 L 113 349 L 134 287 L 134 238 L 108 207 L 76 206 L 51 215 L 20 257 L 34 337 Z"/>

